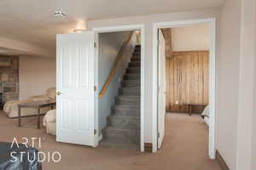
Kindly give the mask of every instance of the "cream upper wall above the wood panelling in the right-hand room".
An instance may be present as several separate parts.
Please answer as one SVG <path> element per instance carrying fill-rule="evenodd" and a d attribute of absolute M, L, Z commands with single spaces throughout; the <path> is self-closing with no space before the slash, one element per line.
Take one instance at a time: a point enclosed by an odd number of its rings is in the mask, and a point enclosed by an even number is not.
<path fill-rule="evenodd" d="M 172 51 L 209 50 L 210 28 L 207 24 L 172 28 Z"/>

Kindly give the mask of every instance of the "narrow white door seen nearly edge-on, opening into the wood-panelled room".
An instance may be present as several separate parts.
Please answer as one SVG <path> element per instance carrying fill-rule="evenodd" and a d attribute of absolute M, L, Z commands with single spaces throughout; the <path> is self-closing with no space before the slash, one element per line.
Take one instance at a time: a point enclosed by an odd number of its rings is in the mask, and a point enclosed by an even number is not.
<path fill-rule="evenodd" d="M 162 31 L 158 31 L 158 149 L 165 136 L 166 116 L 166 55 L 165 38 Z"/>

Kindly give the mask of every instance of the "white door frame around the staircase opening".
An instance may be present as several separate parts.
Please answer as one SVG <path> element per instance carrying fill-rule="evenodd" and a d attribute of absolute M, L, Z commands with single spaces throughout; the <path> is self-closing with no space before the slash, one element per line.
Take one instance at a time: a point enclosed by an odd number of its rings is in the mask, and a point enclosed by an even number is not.
<path fill-rule="evenodd" d="M 143 24 L 141 25 L 126 25 L 126 26 L 107 26 L 107 27 L 94 27 L 92 28 L 92 31 L 96 31 L 96 47 L 98 47 L 99 44 L 99 33 L 103 32 L 113 32 L 113 31 L 141 31 L 141 129 L 140 129 L 140 147 L 141 151 L 144 151 L 144 133 L 145 133 L 145 26 Z M 96 49 L 96 60 L 98 60 L 98 48 Z M 97 64 L 98 67 L 98 64 Z M 98 87 L 98 81 L 96 80 L 96 87 Z M 98 98 L 96 99 L 96 107 L 98 108 Z M 96 109 L 96 124 L 98 125 L 98 110 Z M 98 127 L 97 127 L 98 129 Z M 100 138 L 100 137 L 99 137 Z"/>

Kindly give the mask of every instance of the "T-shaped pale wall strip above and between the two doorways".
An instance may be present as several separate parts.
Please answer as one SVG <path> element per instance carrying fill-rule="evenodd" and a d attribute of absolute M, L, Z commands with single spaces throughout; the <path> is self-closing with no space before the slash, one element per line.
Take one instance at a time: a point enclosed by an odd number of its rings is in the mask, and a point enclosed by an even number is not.
<path fill-rule="evenodd" d="M 145 142 L 152 143 L 152 55 L 153 55 L 153 23 L 175 20 L 196 20 L 218 17 L 218 8 L 196 10 L 188 12 L 178 12 L 169 14 L 151 14 L 134 17 L 123 17 L 109 20 L 88 20 L 88 28 L 104 26 L 124 26 L 124 25 L 145 25 Z M 156 135 L 156 134 L 155 134 Z"/>

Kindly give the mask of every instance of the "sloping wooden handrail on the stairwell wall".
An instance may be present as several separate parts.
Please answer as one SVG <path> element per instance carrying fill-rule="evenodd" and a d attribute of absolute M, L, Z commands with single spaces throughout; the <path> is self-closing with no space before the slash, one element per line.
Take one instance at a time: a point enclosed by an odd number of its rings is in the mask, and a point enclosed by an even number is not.
<path fill-rule="evenodd" d="M 116 71 L 117 71 L 117 69 L 119 67 L 119 62 L 122 59 L 122 56 L 124 54 L 124 51 L 125 51 L 125 48 L 126 48 L 128 42 L 130 42 L 130 40 L 131 40 L 132 33 L 133 33 L 133 31 L 131 31 L 129 37 L 123 43 L 122 47 L 119 49 L 119 53 L 118 53 L 117 57 L 114 59 L 114 61 L 113 61 L 112 69 L 110 71 L 110 74 L 109 74 L 106 82 L 104 83 L 104 86 L 102 87 L 102 90 L 101 90 L 101 92 L 99 94 L 99 98 L 102 98 L 104 96 L 104 94 L 106 94 L 106 92 L 108 91 L 108 86 L 109 86 L 110 82 L 112 81 L 112 79 L 113 79 L 113 77 L 114 77 L 114 75 L 115 75 L 115 73 L 116 73 Z"/>

